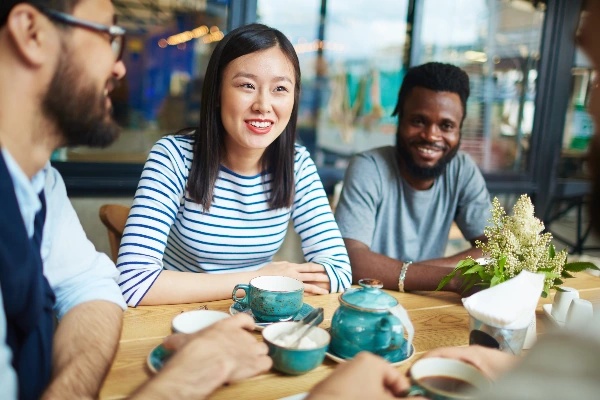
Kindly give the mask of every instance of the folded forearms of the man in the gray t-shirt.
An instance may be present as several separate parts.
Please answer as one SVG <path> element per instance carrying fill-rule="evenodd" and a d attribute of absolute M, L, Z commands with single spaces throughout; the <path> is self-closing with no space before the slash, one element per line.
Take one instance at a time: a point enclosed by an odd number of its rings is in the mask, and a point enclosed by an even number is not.
<path fill-rule="evenodd" d="M 403 262 L 372 252 L 368 248 L 348 249 L 352 265 L 353 283 L 363 278 L 375 278 L 383 282 L 385 289 L 398 290 L 398 277 Z M 404 289 L 430 291 L 437 289 L 442 278 L 467 256 L 481 257 L 481 250 L 471 248 L 452 257 L 413 263 L 406 273 Z M 461 280 L 453 279 L 444 290 L 458 291 Z"/>

